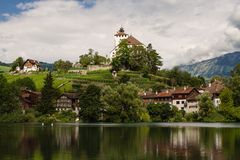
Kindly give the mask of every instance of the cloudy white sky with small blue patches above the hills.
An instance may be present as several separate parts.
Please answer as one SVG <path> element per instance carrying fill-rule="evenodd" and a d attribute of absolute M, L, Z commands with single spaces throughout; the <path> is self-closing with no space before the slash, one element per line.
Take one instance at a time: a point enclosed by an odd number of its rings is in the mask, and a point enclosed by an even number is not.
<path fill-rule="evenodd" d="M 239 0 L 0 0 L 0 61 L 110 55 L 123 26 L 164 68 L 240 50 Z"/>

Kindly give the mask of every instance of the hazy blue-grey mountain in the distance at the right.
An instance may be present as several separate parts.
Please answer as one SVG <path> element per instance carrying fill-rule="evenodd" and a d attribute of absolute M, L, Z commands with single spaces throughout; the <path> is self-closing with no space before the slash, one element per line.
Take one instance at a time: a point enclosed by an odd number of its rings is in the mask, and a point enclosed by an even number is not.
<path fill-rule="evenodd" d="M 213 76 L 229 76 L 232 69 L 240 63 L 240 52 L 227 53 L 220 57 L 208 59 L 202 62 L 179 66 L 195 76 L 211 78 Z"/>

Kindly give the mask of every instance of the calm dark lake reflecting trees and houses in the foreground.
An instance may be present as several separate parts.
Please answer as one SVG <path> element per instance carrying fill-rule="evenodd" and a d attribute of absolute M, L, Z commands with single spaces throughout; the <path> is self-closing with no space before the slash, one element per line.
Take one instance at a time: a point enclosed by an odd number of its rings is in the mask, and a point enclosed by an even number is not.
<path fill-rule="evenodd" d="M 240 159 L 240 124 L 0 125 L 0 160 L 88 159 Z"/>

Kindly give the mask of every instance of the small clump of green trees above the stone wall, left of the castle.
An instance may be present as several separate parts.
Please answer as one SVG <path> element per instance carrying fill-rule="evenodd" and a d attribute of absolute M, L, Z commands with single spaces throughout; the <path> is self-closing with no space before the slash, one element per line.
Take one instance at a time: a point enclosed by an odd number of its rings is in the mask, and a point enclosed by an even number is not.
<path fill-rule="evenodd" d="M 99 55 L 98 52 L 95 52 L 93 49 L 88 50 L 88 54 L 79 56 L 79 63 L 83 67 L 88 65 L 102 65 L 108 63 L 108 59 L 104 56 Z"/>

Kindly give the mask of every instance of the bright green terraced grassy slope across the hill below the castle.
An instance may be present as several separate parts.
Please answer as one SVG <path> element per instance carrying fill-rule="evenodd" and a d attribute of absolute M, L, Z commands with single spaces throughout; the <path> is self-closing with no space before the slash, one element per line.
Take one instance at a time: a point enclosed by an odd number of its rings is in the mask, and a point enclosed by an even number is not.
<path fill-rule="evenodd" d="M 46 77 L 46 72 L 34 73 L 34 74 L 21 74 L 21 75 L 10 75 L 5 74 L 6 78 L 9 82 L 12 82 L 18 78 L 30 77 L 36 84 L 37 90 L 40 90 L 43 86 L 44 78 Z M 131 71 L 121 71 L 118 73 L 118 78 L 122 75 L 127 74 L 130 76 L 130 81 L 137 84 L 139 87 L 148 89 L 156 82 L 162 81 L 161 77 L 152 77 L 151 80 L 149 78 L 143 78 L 141 74 L 137 72 Z M 54 77 L 54 86 L 57 87 L 62 83 L 65 83 L 69 80 L 75 80 L 77 83 L 100 83 L 100 84 L 110 84 L 117 85 L 118 80 L 114 79 L 111 72 L 108 70 L 99 70 L 89 72 L 87 75 L 79 75 L 72 73 L 53 73 Z M 61 91 L 69 91 L 72 89 L 72 82 L 66 84 L 61 88 Z"/>

